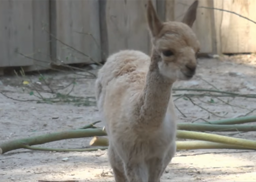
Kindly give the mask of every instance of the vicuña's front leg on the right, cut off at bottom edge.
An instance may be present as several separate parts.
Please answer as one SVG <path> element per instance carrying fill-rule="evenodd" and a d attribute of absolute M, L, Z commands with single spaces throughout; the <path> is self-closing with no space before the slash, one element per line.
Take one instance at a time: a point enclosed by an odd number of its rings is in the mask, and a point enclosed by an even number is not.
<path fill-rule="evenodd" d="M 149 166 L 149 182 L 160 182 L 164 163 L 162 158 L 151 158 L 147 161 Z"/>

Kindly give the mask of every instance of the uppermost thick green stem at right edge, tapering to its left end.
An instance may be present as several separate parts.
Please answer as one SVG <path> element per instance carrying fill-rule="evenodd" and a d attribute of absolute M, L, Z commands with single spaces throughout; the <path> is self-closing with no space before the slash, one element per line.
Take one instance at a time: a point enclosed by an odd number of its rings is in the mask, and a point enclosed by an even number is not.
<path fill-rule="evenodd" d="M 256 122 L 256 116 L 228 118 L 228 119 L 221 119 L 217 121 L 209 121 L 205 123 L 206 124 L 243 124 L 248 122 Z"/>

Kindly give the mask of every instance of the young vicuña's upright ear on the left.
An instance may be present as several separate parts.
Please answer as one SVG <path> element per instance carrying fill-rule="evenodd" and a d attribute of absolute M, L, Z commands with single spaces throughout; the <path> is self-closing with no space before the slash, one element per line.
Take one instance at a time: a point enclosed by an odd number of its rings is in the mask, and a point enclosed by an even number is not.
<path fill-rule="evenodd" d="M 151 0 L 147 4 L 147 23 L 153 37 L 157 36 L 163 27 L 163 23 L 157 16 Z"/>

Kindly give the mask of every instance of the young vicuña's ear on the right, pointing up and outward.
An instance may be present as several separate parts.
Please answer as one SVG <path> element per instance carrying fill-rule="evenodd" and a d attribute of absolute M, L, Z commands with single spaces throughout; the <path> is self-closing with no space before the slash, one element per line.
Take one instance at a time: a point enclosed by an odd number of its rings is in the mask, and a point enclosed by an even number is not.
<path fill-rule="evenodd" d="M 196 19 L 196 11 L 198 6 L 198 0 L 196 0 L 192 5 L 190 5 L 189 9 L 187 10 L 182 22 L 187 24 L 188 26 L 192 27 L 194 21 Z"/>

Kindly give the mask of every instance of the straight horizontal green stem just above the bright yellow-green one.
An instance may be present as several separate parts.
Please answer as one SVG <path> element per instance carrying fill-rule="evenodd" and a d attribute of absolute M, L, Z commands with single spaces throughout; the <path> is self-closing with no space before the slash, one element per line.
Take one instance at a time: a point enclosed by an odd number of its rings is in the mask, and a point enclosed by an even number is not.
<path fill-rule="evenodd" d="M 256 125 L 178 123 L 178 129 L 187 131 L 256 131 Z"/>

